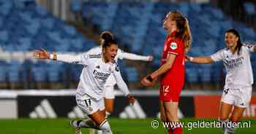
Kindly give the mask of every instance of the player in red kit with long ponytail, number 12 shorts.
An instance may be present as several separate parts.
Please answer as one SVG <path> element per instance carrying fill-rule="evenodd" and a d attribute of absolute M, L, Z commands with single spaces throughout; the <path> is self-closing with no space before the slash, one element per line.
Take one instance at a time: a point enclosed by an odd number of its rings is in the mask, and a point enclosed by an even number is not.
<path fill-rule="evenodd" d="M 160 113 L 162 122 L 179 122 L 178 99 L 184 86 L 184 53 L 191 44 L 191 33 L 187 18 L 180 12 L 168 12 L 163 27 L 168 35 L 162 53 L 162 64 L 157 71 L 144 77 L 140 82 L 145 86 L 154 84 L 157 76 L 160 79 Z M 168 129 L 168 133 L 181 134 L 178 125 Z"/>

